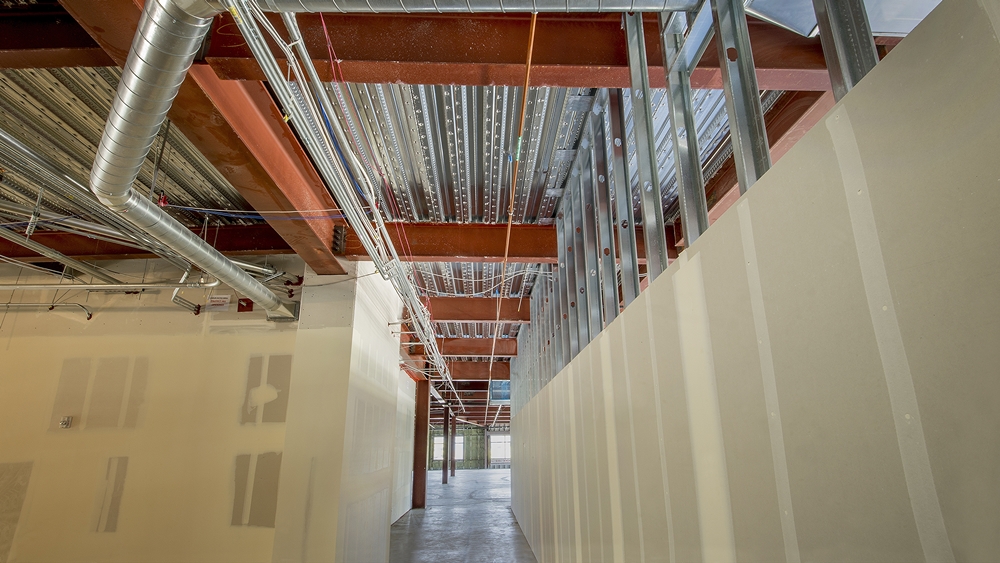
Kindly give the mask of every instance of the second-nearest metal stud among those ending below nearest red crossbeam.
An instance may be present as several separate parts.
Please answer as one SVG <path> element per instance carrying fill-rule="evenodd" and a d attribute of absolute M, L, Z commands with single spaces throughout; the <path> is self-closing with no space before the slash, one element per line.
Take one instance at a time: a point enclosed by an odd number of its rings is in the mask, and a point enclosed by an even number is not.
<path fill-rule="evenodd" d="M 599 104 L 594 106 L 596 119 L 591 120 L 594 144 L 591 149 L 597 211 L 597 234 L 601 258 L 601 304 L 604 309 L 604 327 L 618 316 L 618 268 L 615 253 L 615 218 L 611 208 L 611 171 L 608 169 L 608 93 L 602 90 Z"/>

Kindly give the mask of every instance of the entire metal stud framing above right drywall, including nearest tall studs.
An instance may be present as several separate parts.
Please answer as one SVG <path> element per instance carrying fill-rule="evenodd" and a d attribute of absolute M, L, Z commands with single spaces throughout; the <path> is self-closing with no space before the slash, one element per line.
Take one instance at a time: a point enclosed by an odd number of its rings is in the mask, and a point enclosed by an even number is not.
<path fill-rule="evenodd" d="M 558 265 L 549 267 L 547 279 L 540 276 L 545 281 L 535 285 L 531 323 L 518 334 L 518 350 L 525 353 L 511 361 L 514 414 L 639 294 L 634 192 L 650 281 L 668 264 L 664 199 L 671 189 L 677 190 L 686 242 L 708 228 L 699 144 L 719 134 L 721 116 L 696 119 L 704 107 L 699 100 L 704 104 L 711 94 L 694 95 L 690 77 L 713 35 L 718 36 L 723 61 L 726 113 L 741 189 L 770 166 L 739 0 L 704 0 L 688 14 L 660 14 L 665 94 L 649 87 L 642 14 L 622 18 L 631 88 L 599 91 L 583 117 L 557 208 Z M 721 103 L 720 96 L 715 99 Z M 654 120 L 660 103 L 669 108 L 667 123 Z M 664 136 L 667 140 L 661 143 Z"/>

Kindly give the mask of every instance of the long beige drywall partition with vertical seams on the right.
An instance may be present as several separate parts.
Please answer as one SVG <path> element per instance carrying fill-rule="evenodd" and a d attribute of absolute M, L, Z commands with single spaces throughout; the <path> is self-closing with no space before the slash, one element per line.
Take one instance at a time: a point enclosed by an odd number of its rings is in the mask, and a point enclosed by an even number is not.
<path fill-rule="evenodd" d="M 514 416 L 539 561 L 1000 558 L 998 26 L 945 0 Z"/>

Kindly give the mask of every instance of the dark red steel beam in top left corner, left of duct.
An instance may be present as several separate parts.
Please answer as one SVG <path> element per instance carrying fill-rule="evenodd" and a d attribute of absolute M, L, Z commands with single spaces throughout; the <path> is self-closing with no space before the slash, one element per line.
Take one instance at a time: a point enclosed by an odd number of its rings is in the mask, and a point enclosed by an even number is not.
<path fill-rule="evenodd" d="M 0 68 L 115 64 L 67 13 L 0 17 Z"/>

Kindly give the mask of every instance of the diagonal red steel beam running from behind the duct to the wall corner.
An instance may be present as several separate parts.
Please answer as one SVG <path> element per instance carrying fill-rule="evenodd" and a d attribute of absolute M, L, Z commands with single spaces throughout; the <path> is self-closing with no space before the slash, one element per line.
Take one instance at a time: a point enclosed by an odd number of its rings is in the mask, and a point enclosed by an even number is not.
<path fill-rule="evenodd" d="M 60 3 L 119 66 L 124 64 L 139 22 L 139 6 L 130 0 Z M 226 88 L 218 84 L 221 81 L 213 82 L 208 72 L 196 69 L 187 77 L 168 117 L 256 209 L 294 209 L 303 191 L 315 188 L 302 182 L 314 179 L 316 173 L 309 169 L 311 165 L 288 125 L 280 116 L 275 119 L 269 115 L 270 110 L 260 98 L 262 86 L 237 91 L 235 86 Z M 226 103 L 242 101 L 239 110 L 245 113 L 235 113 L 230 107 L 226 108 L 228 115 L 224 115 L 195 75 L 205 84 L 218 86 L 213 94 L 228 94 L 231 99 Z M 270 113 L 276 114 L 276 110 Z M 309 209 L 331 207 L 330 201 L 323 203 L 318 195 L 309 204 Z M 270 219 L 269 223 L 317 273 L 346 273 L 332 252 L 332 222 L 324 226 L 317 221 Z"/>

